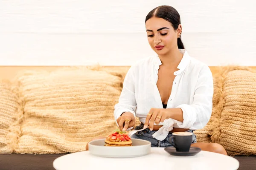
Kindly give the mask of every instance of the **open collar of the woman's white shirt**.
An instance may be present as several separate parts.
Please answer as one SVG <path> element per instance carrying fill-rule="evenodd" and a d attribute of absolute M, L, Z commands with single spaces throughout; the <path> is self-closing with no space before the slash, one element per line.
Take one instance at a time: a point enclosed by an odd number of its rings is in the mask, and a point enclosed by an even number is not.
<path fill-rule="evenodd" d="M 178 75 L 178 74 L 182 73 L 190 61 L 190 56 L 185 49 L 179 49 L 179 51 L 181 54 L 183 54 L 183 57 L 180 61 L 180 64 L 177 66 L 177 68 L 179 70 L 175 71 L 174 75 Z M 156 56 L 154 59 L 154 67 L 156 68 L 157 71 L 158 71 L 160 65 L 162 65 L 162 62 L 161 62 L 160 58 L 158 56 Z"/>

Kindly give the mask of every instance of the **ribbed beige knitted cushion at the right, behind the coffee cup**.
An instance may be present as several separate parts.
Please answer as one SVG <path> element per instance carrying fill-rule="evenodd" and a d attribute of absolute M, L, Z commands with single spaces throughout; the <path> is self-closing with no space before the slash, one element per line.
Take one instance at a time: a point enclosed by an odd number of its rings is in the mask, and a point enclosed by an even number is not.
<path fill-rule="evenodd" d="M 256 154 L 256 73 L 233 67 L 222 71 L 216 128 L 212 141 L 229 155 Z"/>

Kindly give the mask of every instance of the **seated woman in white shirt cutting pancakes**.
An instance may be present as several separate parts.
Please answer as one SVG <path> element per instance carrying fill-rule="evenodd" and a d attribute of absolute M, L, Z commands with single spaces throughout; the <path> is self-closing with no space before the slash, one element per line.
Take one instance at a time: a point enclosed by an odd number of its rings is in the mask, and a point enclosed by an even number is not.
<path fill-rule="evenodd" d="M 120 130 L 131 130 L 135 116 L 141 124 L 132 138 L 168 147 L 172 132 L 202 129 L 212 112 L 213 82 L 207 65 L 189 56 L 180 39 L 180 15 L 171 6 L 159 6 L 145 19 L 148 42 L 156 57 L 140 60 L 129 69 L 114 116 Z M 216 143 L 192 147 L 227 155 Z"/>

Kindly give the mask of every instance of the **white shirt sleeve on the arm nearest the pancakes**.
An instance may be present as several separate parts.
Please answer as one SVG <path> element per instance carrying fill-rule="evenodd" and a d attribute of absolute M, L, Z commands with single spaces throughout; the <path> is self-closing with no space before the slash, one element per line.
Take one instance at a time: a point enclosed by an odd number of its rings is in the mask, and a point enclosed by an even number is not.
<path fill-rule="evenodd" d="M 122 92 L 119 97 L 118 103 L 115 105 L 114 117 L 115 121 L 118 119 L 122 113 L 130 112 L 135 117 L 135 111 L 137 108 L 137 103 L 135 99 L 135 88 L 134 88 L 134 67 L 128 70 L 124 82 Z M 116 125 L 117 122 L 116 122 Z M 131 130 L 133 127 L 129 128 Z"/>

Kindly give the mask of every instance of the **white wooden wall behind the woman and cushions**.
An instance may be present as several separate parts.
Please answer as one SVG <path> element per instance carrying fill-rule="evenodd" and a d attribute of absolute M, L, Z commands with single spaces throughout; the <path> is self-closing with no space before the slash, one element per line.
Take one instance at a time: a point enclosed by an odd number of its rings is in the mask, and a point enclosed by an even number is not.
<path fill-rule="evenodd" d="M 0 65 L 131 65 L 154 55 L 144 21 L 160 5 L 180 13 L 192 57 L 256 65 L 253 0 L 0 0 Z"/>

